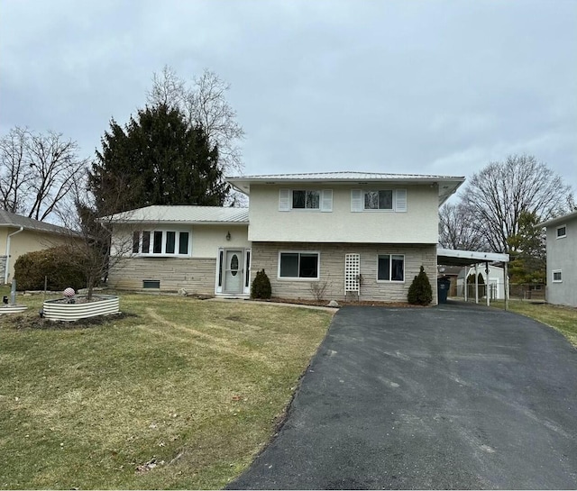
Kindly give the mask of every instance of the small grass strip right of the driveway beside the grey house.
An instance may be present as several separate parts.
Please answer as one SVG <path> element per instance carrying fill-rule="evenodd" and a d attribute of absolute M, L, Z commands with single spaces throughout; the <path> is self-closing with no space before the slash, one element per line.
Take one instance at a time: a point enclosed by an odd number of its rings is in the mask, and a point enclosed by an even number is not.
<path fill-rule="evenodd" d="M 491 305 L 503 308 L 503 302 Z M 560 305 L 531 304 L 522 300 L 509 300 L 509 310 L 526 315 L 561 332 L 573 346 L 577 347 L 577 309 Z"/>

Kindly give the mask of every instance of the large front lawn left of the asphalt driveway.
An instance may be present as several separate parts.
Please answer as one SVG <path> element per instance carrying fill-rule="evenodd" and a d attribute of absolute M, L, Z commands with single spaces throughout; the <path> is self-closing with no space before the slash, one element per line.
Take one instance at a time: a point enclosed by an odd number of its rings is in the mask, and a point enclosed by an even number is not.
<path fill-rule="evenodd" d="M 19 315 L 41 301 L 18 296 Z M 225 486 L 270 440 L 331 319 L 136 294 L 121 310 L 87 327 L 0 317 L 1 488 Z"/>

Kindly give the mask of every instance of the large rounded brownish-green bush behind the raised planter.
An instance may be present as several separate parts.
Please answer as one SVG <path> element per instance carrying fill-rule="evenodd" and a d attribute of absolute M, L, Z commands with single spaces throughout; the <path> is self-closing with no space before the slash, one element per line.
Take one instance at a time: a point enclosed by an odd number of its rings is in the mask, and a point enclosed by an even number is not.
<path fill-rule="evenodd" d="M 69 286 L 75 290 L 84 288 L 87 281 L 78 264 L 81 261 L 62 247 L 28 252 L 14 263 L 16 287 L 19 290 L 43 290 L 44 277 L 47 277 L 51 291 L 60 291 Z"/>

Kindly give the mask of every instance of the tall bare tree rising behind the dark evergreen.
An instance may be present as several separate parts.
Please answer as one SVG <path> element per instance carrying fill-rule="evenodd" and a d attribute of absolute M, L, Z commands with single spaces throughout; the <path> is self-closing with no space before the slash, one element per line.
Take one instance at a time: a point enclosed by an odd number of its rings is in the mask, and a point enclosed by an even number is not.
<path fill-rule="evenodd" d="M 200 77 L 194 77 L 188 86 L 172 68 L 165 66 L 160 74 L 153 75 L 152 88 L 147 94 L 148 104 L 176 106 L 185 114 L 188 124 L 202 125 L 211 144 L 218 148 L 224 174 L 243 170 L 238 141 L 243 139 L 244 131 L 226 100 L 229 89 L 230 84 L 208 69 Z"/>

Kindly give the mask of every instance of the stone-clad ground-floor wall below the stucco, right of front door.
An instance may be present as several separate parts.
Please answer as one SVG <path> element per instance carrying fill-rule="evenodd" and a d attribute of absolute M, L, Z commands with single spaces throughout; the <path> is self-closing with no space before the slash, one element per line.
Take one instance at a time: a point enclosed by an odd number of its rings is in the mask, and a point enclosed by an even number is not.
<path fill-rule="evenodd" d="M 279 250 L 316 251 L 320 253 L 320 279 L 318 281 L 280 279 Z M 344 255 L 361 255 L 361 300 L 382 302 L 407 302 L 408 287 L 417 276 L 421 265 L 425 268 L 433 287 L 436 304 L 436 245 L 399 244 L 312 244 L 309 242 L 252 242 L 252 278 L 264 269 L 270 278 L 272 296 L 281 298 L 315 298 L 313 284 L 324 286 L 326 300 L 344 300 Z M 404 282 L 377 282 L 379 254 L 405 256 Z"/>

